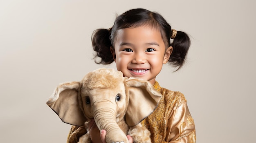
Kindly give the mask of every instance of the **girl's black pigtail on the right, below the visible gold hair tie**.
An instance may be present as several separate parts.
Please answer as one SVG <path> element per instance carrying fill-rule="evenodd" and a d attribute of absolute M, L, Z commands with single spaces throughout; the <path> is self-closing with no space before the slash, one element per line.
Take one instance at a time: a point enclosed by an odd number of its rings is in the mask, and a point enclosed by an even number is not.
<path fill-rule="evenodd" d="M 173 38 L 171 46 L 173 46 L 173 52 L 171 53 L 171 56 L 169 58 L 169 63 L 172 66 L 178 67 L 177 70 L 179 70 L 183 66 L 186 59 L 186 54 L 189 51 L 189 36 L 182 31 L 177 31 L 175 37 Z"/>

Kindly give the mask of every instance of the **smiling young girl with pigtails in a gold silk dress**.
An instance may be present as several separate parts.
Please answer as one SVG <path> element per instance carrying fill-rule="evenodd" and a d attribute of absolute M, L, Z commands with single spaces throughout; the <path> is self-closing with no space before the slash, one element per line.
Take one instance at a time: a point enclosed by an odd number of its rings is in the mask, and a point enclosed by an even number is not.
<path fill-rule="evenodd" d="M 96 63 L 115 62 L 125 77 L 146 79 L 163 95 L 155 111 L 141 121 L 150 130 L 152 143 L 195 143 L 195 124 L 184 95 L 155 81 L 163 64 L 169 62 L 177 70 L 183 65 L 190 46 L 186 33 L 171 29 L 158 13 L 131 9 L 119 15 L 112 28 L 94 31 L 92 46 L 95 58 L 101 58 Z M 92 143 L 106 142 L 106 131 L 99 131 L 94 121 L 89 130 Z M 83 126 L 72 126 L 67 143 L 76 143 L 86 132 Z M 132 143 L 131 136 L 127 137 Z"/>

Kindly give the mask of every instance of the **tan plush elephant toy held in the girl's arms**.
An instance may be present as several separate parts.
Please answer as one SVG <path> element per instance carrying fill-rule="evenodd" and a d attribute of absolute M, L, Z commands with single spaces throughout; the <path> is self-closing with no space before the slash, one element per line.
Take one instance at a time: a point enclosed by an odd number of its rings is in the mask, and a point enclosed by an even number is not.
<path fill-rule="evenodd" d="M 88 124 L 94 119 L 99 130 L 106 130 L 107 143 L 151 143 L 150 132 L 140 121 L 156 108 L 162 95 L 143 79 L 123 77 L 114 69 L 99 68 L 80 82 L 59 84 L 47 105 L 61 120 L 71 125 Z M 79 142 L 90 142 L 87 132 Z"/>

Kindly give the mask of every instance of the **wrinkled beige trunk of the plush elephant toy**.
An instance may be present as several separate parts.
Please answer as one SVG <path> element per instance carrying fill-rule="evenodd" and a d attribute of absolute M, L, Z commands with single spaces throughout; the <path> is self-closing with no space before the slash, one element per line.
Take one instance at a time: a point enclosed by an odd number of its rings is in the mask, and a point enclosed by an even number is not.
<path fill-rule="evenodd" d="M 116 112 L 112 108 L 103 108 L 94 112 L 94 121 L 99 130 L 106 130 L 107 143 L 128 143 L 126 134 L 119 128 Z"/>

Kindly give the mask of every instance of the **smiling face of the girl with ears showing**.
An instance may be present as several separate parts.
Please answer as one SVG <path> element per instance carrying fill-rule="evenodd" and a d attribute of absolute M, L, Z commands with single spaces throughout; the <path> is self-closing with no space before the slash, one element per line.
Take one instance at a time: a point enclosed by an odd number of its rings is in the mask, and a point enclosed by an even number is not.
<path fill-rule="evenodd" d="M 117 70 L 125 77 L 140 77 L 152 85 L 172 51 L 171 46 L 166 50 L 160 31 L 150 26 L 120 29 L 114 47 Z"/>

